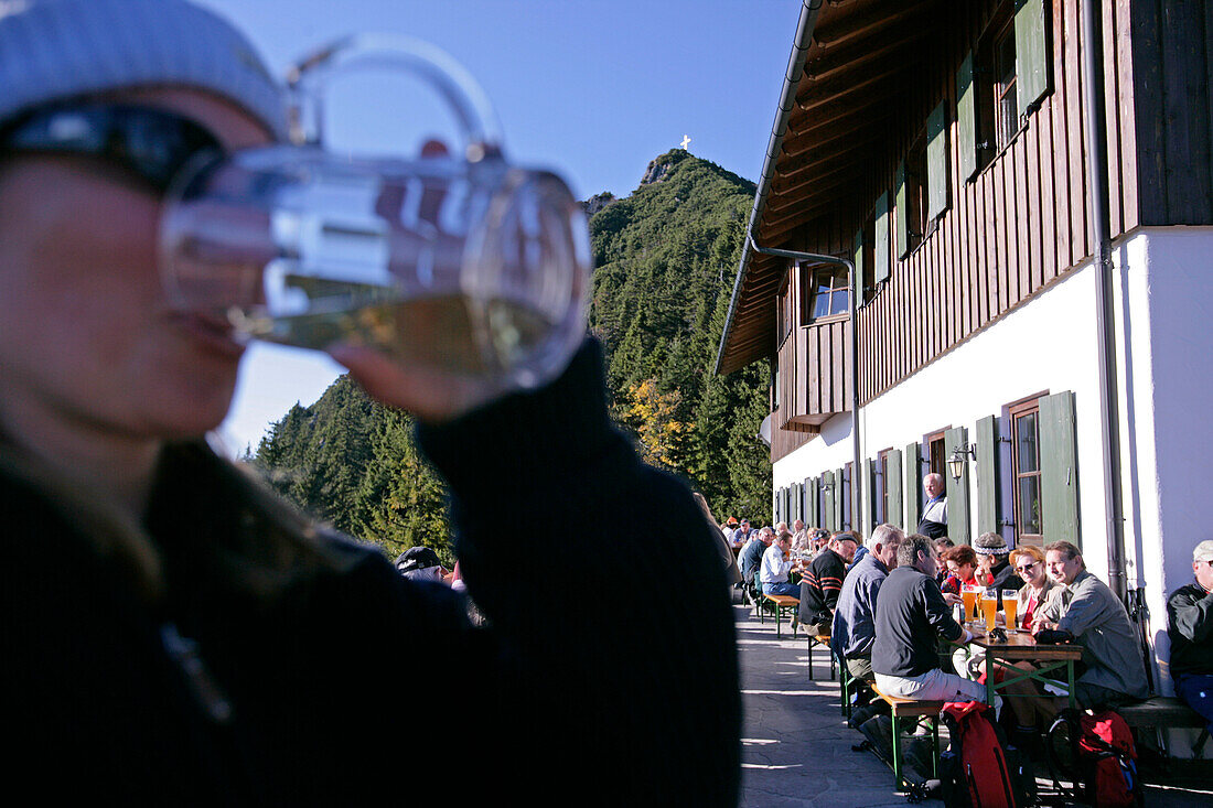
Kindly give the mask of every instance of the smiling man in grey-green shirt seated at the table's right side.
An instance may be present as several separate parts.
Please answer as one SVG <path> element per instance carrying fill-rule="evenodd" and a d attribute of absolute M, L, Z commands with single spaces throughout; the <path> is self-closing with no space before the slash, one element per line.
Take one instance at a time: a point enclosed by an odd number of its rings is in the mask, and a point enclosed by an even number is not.
<path fill-rule="evenodd" d="M 1081 551 L 1069 541 L 1044 548 L 1049 577 L 1064 588 L 1032 620 L 1037 642 L 1082 645 L 1083 673 L 1075 682 L 1081 707 L 1116 707 L 1150 695 L 1137 630 L 1107 585 L 1087 571 Z M 1061 702 L 1064 704 L 1064 702 Z"/>

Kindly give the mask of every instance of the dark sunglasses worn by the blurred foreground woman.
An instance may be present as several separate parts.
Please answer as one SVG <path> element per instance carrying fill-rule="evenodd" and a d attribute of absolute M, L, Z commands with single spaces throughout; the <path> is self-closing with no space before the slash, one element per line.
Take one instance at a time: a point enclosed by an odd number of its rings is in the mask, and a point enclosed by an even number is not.
<path fill-rule="evenodd" d="M 207 129 L 161 109 L 123 104 L 40 107 L 0 130 L 0 152 L 78 154 L 104 160 L 163 195 L 201 154 L 223 147 Z"/>

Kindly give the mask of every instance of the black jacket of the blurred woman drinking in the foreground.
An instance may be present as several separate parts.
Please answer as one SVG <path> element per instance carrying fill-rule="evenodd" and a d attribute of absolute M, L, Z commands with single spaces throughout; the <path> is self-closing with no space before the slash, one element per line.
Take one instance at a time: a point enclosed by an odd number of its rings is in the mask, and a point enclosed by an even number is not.
<path fill-rule="evenodd" d="M 717 540 L 611 428 L 600 362 L 587 347 L 548 388 L 420 431 L 486 628 L 377 550 L 250 541 L 267 517 L 201 443 L 161 459 L 156 594 L 0 446 L 6 785 L 75 804 L 368 804 L 423 784 L 442 804 L 735 804 Z M 651 530 L 621 536 L 623 512 Z M 536 514 L 579 525 L 542 564 Z M 668 557 L 690 584 L 655 601 Z"/>

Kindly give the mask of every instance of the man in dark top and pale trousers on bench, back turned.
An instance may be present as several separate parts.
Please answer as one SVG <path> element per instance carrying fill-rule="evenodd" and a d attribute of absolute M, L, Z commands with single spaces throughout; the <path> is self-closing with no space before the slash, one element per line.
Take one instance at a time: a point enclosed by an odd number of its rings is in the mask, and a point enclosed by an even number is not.
<path fill-rule="evenodd" d="M 935 545 L 927 536 L 915 534 L 898 547 L 898 567 L 881 584 L 876 602 L 876 687 L 904 699 L 980 701 L 984 684 L 939 667 L 939 637 L 968 643 L 973 635 L 952 619 L 935 585 L 938 567 Z"/>

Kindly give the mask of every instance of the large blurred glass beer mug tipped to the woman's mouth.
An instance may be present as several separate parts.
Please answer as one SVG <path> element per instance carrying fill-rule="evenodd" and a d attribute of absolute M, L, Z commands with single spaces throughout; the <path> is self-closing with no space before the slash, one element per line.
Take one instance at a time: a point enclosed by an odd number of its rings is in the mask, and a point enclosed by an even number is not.
<path fill-rule="evenodd" d="M 451 107 L 461 153 L 336 157 L 326 82 L 353 67 L 418 74 Z M 554 173 L 511 165 L 475 82 L 415 40 L 357 36 L 290 75 L 291 144 L 195 166 L 170 193 L 170 305 L 241 338 L 372 346 L 484 403 L 542 385 L 585 335 L 586 217 Z"/>

